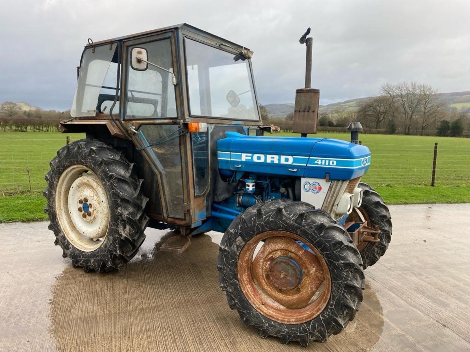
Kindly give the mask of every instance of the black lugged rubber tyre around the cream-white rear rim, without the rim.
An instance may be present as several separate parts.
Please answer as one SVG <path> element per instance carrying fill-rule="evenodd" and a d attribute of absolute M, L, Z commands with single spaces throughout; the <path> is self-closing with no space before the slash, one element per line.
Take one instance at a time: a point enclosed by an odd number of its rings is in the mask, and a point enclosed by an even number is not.
<path fill-rule="evenodd" d="M 103 244 L 91 252 L 74 247 L 63 233 L 55 212 L 55 190 L 63 171 L 72 165 L 91 169 L 100 179 L 108 195 L 110 224 Z M 149 222 L 145 214 L 148 199 L 142 193 L 142 180 L 134 171 L 133 163 L 112 146 L 94 139 L 80 139 L 57 151 L 46 175 L 47 199 L 45 213 L 49 215 L 49 230 L 55 235 L 55 245 L 63 249 L 63 257 L 72 260 L 72 266 L 86 272 L 115 270 L 138 252 L 145 239 Z"/>

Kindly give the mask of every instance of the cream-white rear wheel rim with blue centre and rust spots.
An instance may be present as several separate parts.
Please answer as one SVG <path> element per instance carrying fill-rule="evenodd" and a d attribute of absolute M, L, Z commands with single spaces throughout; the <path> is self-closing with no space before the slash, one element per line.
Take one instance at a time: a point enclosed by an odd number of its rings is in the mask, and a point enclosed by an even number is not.
<path fill-rule="evenodd" d="M 92 252 L 106 238 L 110 206 L 106 190 L 83 165 L 67 168 L 55 190 L 55 212 L 65 237 L 84 252 Z"/>

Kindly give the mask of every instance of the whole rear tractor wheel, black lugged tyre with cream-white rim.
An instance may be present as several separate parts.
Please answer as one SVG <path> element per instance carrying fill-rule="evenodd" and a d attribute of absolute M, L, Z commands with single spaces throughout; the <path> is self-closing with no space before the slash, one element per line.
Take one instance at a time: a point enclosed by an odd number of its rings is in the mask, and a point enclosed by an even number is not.
<path fill-rule="evenodd" d="M 131 260 L 149 221 L 133 164 L 110 145 L 81 139 L 61 148 L 50 166 L 44 212 L 63 257 L 86 272 Z"/>

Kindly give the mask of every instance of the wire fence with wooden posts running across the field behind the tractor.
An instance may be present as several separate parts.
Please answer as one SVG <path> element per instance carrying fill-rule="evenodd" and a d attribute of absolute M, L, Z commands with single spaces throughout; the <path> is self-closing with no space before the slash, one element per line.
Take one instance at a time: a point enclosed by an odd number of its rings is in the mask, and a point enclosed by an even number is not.
<path fill-rule="evenodd" d="M 0 135 L 0 196 L 46 188 L 44 176 L 49 162 L 66 145 L 66 136 L 47 138 L 39 133 L 38 136 L 46 138 Z M 71 141 L 80 138 L 83 136 L 72 135 Z M 470 185 L 470 140 L 466 138 L 455 145 L 438 141 L 437 148 L 434 143 L 367 146 L 372 153 L 371 166 L 362 180 L 372 186 Z"/>

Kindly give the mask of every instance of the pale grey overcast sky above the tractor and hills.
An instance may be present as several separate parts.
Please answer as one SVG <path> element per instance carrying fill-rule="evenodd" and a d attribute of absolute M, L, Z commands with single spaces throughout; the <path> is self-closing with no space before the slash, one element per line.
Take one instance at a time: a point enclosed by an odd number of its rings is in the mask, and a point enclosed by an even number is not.
<path fill-rule="evenodd" d="M 186 22 L 251 48 L 259 101 L 294 101 L 312 27 L 312 86 L 321 104 L 415 80 L 470 90 L 469 0 L 0 0 L 0 102 L 71 106 L 94 41 Z"/>

